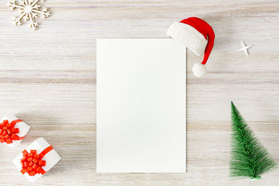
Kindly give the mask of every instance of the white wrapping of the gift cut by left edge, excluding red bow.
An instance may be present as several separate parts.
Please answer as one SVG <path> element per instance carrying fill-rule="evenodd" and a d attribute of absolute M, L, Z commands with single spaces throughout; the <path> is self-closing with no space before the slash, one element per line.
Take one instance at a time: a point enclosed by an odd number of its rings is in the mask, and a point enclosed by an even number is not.
<path fill-rule="evenodd" d="M 26 123 L 24 123 L 23 121 L 19 120 L 19 118 L 13 116 L 13 115 L 7 115 L 7 116 L 3 116 L 3 118 L 1 118 L 0 123 L 3 123 L 3 121 L 8 121 L 8 123 L 12 123 L 13 121 L 17 121 L 17 123 L 15 124 L 15 128 L 18 128 L 20 130 L 19 133 L 17 133 L 18 137 L 25 137 L 30 129 L 30 126 L 27 125 Z M 6 144 L 7 146 L 9 146 L 10 148 L 13 148 L 14 146 L 17 146 L 18 144 L 20 144 L 20 142 L 22 142 L 22 139 L 20 140 L 13 140 L 13 143 L 11 144 L 7 144 L 6 142 L 3 142 L 3 144 Z"/>

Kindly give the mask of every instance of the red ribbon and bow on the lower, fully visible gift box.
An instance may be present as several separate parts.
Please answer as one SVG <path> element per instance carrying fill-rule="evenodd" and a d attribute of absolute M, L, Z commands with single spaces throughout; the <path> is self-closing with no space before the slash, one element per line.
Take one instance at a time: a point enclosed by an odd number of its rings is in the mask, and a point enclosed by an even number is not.
<path fill-rule="evenodd" d="M 29 176 L 35 176 L 36 173 L 45 174 L 45 170 L 42 168 L 45 166 L 45 160 L 42 158 L 52 150 L 52 146 L 45 148 L 39 155 L 36 150 L 30 150 L 30 153 L 27 150 L 23 150 L 22 154 L 22 170 L 20 171 L 22 174 L 29 173 Z"/>

